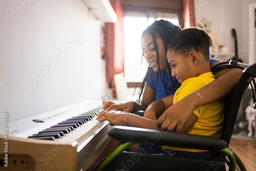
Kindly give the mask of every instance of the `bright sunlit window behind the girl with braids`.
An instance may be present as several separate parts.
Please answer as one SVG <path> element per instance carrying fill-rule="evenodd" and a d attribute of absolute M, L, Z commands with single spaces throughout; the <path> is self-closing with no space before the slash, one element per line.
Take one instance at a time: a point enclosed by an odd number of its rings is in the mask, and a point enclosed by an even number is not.
<path fill-rule="evenodd" d="M 178 14 L 166 12 L 124 11 L 124 74 L 126 82 L 142 82 L 147 70 L 142 58 L 141 34 L 155 20 L 165 19 L 179 26 Z"/>

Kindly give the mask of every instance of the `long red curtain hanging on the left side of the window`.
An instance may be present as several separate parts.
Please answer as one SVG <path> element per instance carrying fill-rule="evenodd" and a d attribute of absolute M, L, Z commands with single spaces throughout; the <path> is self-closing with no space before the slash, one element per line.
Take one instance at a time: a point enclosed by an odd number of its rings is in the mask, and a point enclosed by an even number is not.
<path fill-rule="evenodd" d="M 111 0 L 111 5 L 117 15 L 116 23 L 106 23 L 106 80 L 112 88 L 112 96 L 115 98 L 114 75 L 124 73 L 124 29 L 123 11 L 120 0 Z"/>

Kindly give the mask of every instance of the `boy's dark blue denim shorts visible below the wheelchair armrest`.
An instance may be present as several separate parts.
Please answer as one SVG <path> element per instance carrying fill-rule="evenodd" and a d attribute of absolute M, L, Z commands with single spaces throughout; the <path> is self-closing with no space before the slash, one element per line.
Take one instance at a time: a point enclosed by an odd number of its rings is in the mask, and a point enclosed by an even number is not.
<path fill-rule="evenodd" d="M 163 149 L 161 146 L 145 145 L 141 143 L 138 147 L 138 153 L 153 154 L 159 156 L 169 156 L 186 159 L 213 160 L 214 158 L 200 152 L 183 152 L 170 149 Z"/>

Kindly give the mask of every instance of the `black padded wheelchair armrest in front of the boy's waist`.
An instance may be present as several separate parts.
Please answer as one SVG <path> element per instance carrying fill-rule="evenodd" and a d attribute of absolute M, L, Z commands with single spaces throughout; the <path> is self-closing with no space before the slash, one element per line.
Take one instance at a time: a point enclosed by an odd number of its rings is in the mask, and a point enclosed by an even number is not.
<path fill-rule="evenodd" d="M 227 143 L 218 137 L 141 129 L 130 126 L 112 127 L 108 134 L 122 143 L 135 142 L 205 150 L 218 150 L 227 147 Z"/>

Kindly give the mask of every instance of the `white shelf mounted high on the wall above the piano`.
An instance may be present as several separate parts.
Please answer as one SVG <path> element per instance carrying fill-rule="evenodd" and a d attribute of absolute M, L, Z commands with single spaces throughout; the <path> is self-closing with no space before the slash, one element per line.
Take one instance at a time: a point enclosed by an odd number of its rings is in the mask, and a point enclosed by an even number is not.
<path fill-rule="evenodd" d="M 117 16 L 109 0 L 83 0 L 98 20 L 104 23 L 115 23 Z"/>

